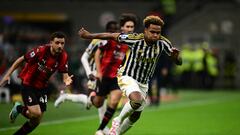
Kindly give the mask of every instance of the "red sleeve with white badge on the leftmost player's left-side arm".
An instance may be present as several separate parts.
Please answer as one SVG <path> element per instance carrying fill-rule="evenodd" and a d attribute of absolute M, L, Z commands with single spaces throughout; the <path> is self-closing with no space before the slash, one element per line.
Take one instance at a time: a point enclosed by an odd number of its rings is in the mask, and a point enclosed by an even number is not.
<path fill-rule="evenodd" d="M 31 63 L 31 62 L 35 62 L 37 61 L 37 58 L 39 56 L 39 53 L 42 50 L 42 46 L 33 48 L 32 50 L 28 51 L 25 55 L 24 55 L 24 59 L 27 63 Z"/>

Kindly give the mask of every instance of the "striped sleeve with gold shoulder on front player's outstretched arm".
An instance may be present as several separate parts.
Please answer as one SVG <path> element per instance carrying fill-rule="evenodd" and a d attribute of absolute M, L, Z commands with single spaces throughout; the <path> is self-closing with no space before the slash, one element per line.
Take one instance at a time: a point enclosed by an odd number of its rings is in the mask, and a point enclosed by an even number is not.
<path fill-rule="evenodd" d="M 143 33 L 141 33 L 141 34 L 137 34 L 137 33 L 134 33 L 134 34 L 124 34 L 124 33 L 121 33 L 118 36 L 117 40 L 118 40 L 118 42 L 127 44 L 129 47 L 131 47 L 137 41 L 142 40 L 143 38 L 144 38 Z"/>

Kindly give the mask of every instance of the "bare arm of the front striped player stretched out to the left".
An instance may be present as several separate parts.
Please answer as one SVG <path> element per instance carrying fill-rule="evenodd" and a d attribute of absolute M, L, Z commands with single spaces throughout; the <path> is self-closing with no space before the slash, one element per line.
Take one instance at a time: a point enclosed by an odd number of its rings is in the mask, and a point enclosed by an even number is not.
<path fill-rule="evenodd" d="M 81 38 L 84 39 L 113 39 L 113 40 L 117 40 L 118 36 L 120 33 L 90 33 L 87 30 L 85 30 L 84 28 L 81 28 L 78 31 L 78 34 Z"/>

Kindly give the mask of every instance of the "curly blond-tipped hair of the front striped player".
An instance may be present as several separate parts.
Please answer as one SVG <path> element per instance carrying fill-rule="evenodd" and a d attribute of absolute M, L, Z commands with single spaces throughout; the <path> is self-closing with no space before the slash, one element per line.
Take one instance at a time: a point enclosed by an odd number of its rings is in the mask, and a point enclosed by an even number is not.
<path fill-rule="evenodd" d="M 160 17 L 150 15 L 143 20 L 143 25 L 145 28 L 148 28 L 150 24 L 159 25 L 162 27 L 164 25 L 164 22 Z"/>

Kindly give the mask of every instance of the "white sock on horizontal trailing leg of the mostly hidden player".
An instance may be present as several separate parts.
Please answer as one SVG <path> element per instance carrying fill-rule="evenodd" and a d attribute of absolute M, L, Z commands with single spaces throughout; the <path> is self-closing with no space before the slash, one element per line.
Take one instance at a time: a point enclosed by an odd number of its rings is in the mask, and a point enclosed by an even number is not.
<path fill-rule="evenodd" d="M 84 94 L 66 94 L 66 100 L 70 100 L 72 102 L 78 102 L 81 104 L 87 104 L 87 95 Z"/>

